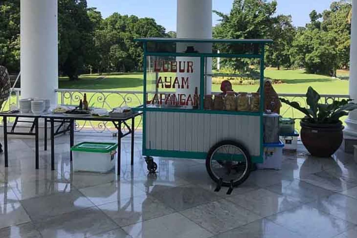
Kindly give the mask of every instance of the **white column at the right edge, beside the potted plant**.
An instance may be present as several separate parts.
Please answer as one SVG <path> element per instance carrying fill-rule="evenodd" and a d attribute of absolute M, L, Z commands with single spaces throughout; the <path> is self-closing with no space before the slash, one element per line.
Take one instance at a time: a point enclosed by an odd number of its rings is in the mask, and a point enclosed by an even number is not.
<path fill-rule="evenodd" d="M 357 102 L 357 0 L 352 0 L 351 21 L 351 54 L 350 54 L 350 97 Z M 346 119 L 345 133 L 357 137 L 357 110 L 350 112 Z"/>

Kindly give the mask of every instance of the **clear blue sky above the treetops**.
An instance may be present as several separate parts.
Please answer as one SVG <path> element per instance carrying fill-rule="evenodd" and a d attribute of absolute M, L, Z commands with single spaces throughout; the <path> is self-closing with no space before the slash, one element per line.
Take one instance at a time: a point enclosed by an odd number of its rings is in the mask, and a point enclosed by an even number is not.
<path fill-rule="evenodd" d="M 305 26 L 312 10 L 322 12 L 333 0 L 277 0 L 278 14 L 292 15 L 295 26 Z M 113 12 L 152 17 L 167 31 L 176 31 L 176 0 L 87 0 L 88 5 L 97 7 L 104 17 Z M 228 13 L 233 0 L 213 0 L 213 9 Z M 218 17 L 213 14 L 213 25 Z"/>

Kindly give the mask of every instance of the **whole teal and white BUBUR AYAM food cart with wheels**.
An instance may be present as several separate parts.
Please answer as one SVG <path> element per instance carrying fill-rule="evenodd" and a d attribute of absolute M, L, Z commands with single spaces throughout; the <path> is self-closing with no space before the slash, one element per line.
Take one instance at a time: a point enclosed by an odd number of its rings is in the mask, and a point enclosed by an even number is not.
<path fill-rule="evenodd" d="M 263 162 L 263 92 L 265 45 L 272 40 L 136 39 L 144 47 L 143 145 L 147 168 L 154 156 L 205 159 L 219 186 L 245 181 L 253 163 Z M 218 51 L 219 49 L 219 51 Z M 213 77 L 246 75 L 212 71 L 213 62 L 255 65 L 254 92 L 212 95 Z M 253 67 L 253 66 L 252 66 Z M 214 97 L 214 98 L 213 98 Z"/>

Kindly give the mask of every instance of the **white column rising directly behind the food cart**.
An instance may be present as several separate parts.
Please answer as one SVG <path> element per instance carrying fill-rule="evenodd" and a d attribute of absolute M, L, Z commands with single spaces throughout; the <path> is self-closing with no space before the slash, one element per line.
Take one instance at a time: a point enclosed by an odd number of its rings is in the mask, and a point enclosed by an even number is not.
<path fill-rule="evenodd" d="M 177 0 L 177 38 L 212 39 L 212 0 Z M 177 44 L 177 52 L 193 46 L 199 52 L 212 52 L 212 44 Z M 181 61 L 193 61 L 197 74 L 190 74 L 190 88 L 177 90 L 178 93 L 193 94 L 200 88 L 200 60 L 177 57 Z M 207 59 L 207 72 L 212 71 L 212 59 Z M 182 76 L 182 75 L 180 75 Z M 188 76 L 188 75 L 187 75 Z M 207 77 L 207 94 L 211 93 L 211 77 Z M 198 91 L 199 93 L 199 91 Z"/>

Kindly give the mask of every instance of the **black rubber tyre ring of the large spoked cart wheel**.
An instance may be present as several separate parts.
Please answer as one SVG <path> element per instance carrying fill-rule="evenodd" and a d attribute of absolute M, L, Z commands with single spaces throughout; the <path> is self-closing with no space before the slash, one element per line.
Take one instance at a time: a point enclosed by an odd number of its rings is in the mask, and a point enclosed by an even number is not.
<path fill-rule="evenodd" d="M 239 184 L 241 184 L 244 181 L 246 181 L 246 179 L 249 177 L 250 172 L 251 172 L 251 167 L 252 167 L 252 160 L 251 160 L 250 154 L 249 154 L 248 150 L 243 145 L 241 145 L 240 143 L 238 143 L 236 141 L 225 140 L 225 141 L 218 142 L 216 145 L 212 146 L 210 151 L 208 151 L 208 154 L 207 154 L 207 157 L 206 157 L 206 169 L 207 169 L 208 174 L 212 178 L 212 180 L 215 181 L 216 183 L 218 183 L 220 178 L 217 178 L 215 176 L 215 174 L 212 172 L 212 169 L 211 169 L 211 157 L 212 157 L 212 154 L 216 151 L 216 149 L 218 147 L 225 146 L 225 145 L 232 145 L 232 146 L 236 146 L 236 147 L 240 148 L 240 150 L 244 153 L 244 155 L 247 158 L 246 173 L 243 175 L 243 177 L 241 179 L 239 179 L 238 181 L 233 182 L 233 186 L 238 186 Z M 230 182 L 225 182 L 225 181 L 222 182 L 222 186 L 229 187 L 230 185 L 231 185 Z"/>

